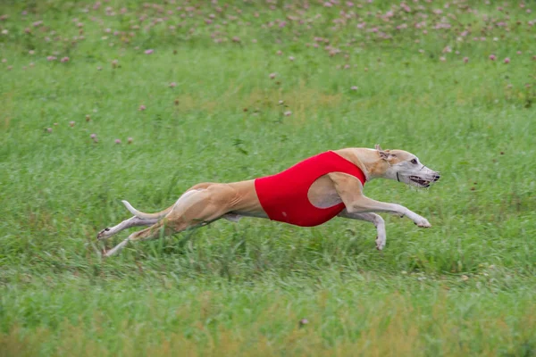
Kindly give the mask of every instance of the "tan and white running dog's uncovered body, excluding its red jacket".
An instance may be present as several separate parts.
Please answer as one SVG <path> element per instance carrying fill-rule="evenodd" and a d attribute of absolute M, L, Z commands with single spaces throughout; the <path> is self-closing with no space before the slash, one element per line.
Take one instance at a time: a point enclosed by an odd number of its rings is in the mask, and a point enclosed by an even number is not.
<path fill-rule="evenodd" d="M 440 179 L 437 171 L 424 166 L 414 155 L 402 150 L 347 148 L 334 151 L 348 162 L 363 171 L 367 181 L 371 179 L 396 179 L 415 187 L 429 187 Z M 330 172 L 315 179 L 308 188 L 307 198 L 319 209 L 344 203 L 344 209 L 338 216 L 352 220 L 372 222 L 377 229 L 376 247 L 385 246 L 385 222 L 378 214 L 372 212 L 390 212 L 406 216 L 419 227 L 431 227 L 428 220 L 406 207 L 396 203 L 374 201 L 363 194 L 363 185 L 356 177 L 342 172 Z M 188 228 L 205 226 L 221 218 L 238 221 L 241 217 L 268 218 L 255 191 L 255 179 L 229 184 L 201 183 L 180 196 L 176 203 L 158 213 L 137 211 L 130 203 L 122 201 L 134 214 L 113 228 L 105 228 L 97 239 L 112 237 L 122 229 L 135 226 L 151 226 L 132 233 L 105 256 L 118 253 L 130 241 L 154 239 L 169 236 Z"/>

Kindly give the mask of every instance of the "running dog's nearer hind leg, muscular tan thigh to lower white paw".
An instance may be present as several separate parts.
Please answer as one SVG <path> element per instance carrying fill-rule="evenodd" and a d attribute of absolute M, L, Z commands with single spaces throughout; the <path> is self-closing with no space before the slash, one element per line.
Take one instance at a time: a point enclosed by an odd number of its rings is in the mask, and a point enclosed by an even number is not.
<path fill-rule="evenodd" d="M 231 211 L 230 205 L 235 195 L 236 191 L 224 184 L 214 184 L 206 189 L 188 191 L 180 196 L 180 199 L 173 205 L 172 211 L 163 220 L 149 228 L 132 233 L 119 245 L 105 253 L 105 256 L 119 253 L 130 241 L 155 239 L 161 235 L 170 236 L 219 220 L 225 213 Z"/>

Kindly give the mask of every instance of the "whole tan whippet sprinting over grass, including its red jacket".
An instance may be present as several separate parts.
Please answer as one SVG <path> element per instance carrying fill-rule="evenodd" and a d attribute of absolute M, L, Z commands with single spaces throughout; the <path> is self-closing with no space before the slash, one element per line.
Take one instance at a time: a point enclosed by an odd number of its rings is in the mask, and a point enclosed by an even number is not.
<path fill-rule="evenodd" d="M 267 218 L 311 227 L 338 216 L 372 222 L 377 229 L 376 248 L 386 243 L 385 222 L 376 213 L 406 216 L 418 227 L 430 228 L 424 217 L 397 203 L 375 201 L 364 195 L 364 182 L 395 179 L 415 187 L 430 187 L 440 173 L 423 165 L 403 150 L 345 148 L 316 155 L 280 174 L 233 183 L 200 183 L 188 188 L 169 208 L 157 213 L 139 212 L 122 203 L 134 215 L 97 239 L 106 239 L 123 229 L 150 226 L 130 234 L 105 256 L 121 251 L 129 242 L 169 236 L 189 228 L 205 226 L 219 219 L 238 221 L 242 217 Z"/>

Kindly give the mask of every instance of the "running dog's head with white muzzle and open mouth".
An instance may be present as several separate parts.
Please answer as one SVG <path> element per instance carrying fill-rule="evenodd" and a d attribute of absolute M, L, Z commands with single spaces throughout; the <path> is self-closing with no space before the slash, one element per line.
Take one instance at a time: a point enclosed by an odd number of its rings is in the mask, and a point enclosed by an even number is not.
<path fill-rule="evenodd" d="M 424 166 L 414 154 L 404 150 L 382 150 L 380 145 L 376 145 L 376 150 L 381 160 L 389 164 L 383 175 L 385 179 L 396 179 L 415 187 L 430 187 L 440 179 L 439 172 Z"/>

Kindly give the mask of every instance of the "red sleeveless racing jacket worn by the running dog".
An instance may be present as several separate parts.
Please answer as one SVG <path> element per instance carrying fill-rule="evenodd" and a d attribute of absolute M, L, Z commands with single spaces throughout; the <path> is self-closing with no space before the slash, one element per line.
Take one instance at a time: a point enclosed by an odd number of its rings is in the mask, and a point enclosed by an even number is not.
<path fill-rule="evenodd" d="M 345 208 L 344 203 L 318 208 L 307 198 L 314 181 L 331 172 L 352 175 L 363 185 L 366 181 L 363 171 L 355 164 L 328 151 L 298 162 L 278 174 L 255 179 L 255 191 L 270 220 L 314 227 L 331 220 Z"/>

